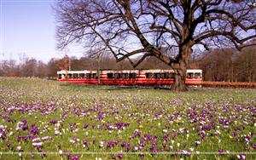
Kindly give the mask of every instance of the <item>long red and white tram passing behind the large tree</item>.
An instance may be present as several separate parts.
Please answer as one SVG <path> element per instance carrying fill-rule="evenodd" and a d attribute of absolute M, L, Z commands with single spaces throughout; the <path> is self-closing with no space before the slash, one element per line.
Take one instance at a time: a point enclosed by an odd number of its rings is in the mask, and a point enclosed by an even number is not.
<path fill-rule="evenodd" d="M 172 84 L 173 70 L 57 71 L 59 82 L 90 84 Z M 98 78 L 98 75 L 100 77 Z M 202 71 L 187 70 L 187 85 L 201 85 Z"/>

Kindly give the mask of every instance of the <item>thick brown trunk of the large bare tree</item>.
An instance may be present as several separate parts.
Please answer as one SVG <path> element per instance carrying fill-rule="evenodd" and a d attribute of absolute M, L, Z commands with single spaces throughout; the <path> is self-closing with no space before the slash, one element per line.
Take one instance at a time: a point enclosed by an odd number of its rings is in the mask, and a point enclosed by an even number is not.
<path fill-rule="evenodd" d="M 174 83 L 172 85 L 173 91 L 187 91 L 186 77 L 187 77 L 187 67 L 189 66 L 189 60 L 192 53 L 191 43 L 184 45 L 180 48 L 180 59 L 176 64 L 172 65 L 174 69 Z"/>

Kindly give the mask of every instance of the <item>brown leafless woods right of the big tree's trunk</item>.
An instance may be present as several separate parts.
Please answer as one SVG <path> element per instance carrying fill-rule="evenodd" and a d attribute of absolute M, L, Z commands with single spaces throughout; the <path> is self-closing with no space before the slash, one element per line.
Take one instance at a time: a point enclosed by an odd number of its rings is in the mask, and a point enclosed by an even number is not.
<path fill-rule="evenodd" d="M 214 49 L 195 60 L 204 80 L 213 82 L 256 82 L 256 48 Z"/>

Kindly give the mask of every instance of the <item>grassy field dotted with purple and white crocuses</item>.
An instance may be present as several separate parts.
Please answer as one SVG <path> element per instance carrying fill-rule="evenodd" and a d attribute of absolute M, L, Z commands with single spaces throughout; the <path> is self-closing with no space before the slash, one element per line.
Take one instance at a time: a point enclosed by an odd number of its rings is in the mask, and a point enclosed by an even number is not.
<path fill-rule="evenodd" d="M 0 78 L 0 159 L 256 159 L 256 90 Z"/>

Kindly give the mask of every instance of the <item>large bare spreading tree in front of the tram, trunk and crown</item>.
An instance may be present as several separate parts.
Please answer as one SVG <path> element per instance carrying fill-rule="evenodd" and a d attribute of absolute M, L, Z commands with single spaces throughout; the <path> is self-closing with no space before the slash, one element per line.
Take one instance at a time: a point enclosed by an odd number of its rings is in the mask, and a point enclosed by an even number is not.
<path fill-rule="evenodd" d="M 185 91 L 195 45 L 242 49 L 256 37 L 256 12 L 247 1 L 61 0 L 55 6 L 58 47 L 84 43 L 107 49 L 136 67 L 154 56 L 175 71 L 173 90 Z M 167 56 L 162 48 L 177 50 Z M 137 61 L 132 57 L 142 55 Z"/>

